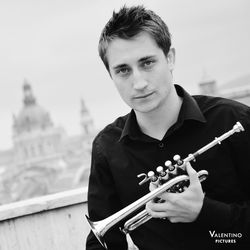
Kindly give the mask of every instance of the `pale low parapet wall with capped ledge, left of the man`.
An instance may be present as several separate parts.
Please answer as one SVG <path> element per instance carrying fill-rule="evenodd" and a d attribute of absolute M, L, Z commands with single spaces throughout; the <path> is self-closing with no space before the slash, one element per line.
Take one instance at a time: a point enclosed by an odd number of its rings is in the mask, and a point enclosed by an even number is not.
<path fill-rule="evenodd" d="M 87 188 L 2 205 L 0 250 L 83 250 L 86 213 Z"/>

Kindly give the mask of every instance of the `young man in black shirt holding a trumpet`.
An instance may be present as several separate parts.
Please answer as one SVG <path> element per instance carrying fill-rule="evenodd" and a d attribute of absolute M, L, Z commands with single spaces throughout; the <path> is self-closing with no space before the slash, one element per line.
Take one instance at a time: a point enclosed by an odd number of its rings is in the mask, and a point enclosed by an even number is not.
<path fill-rule="evenodd" d="M 148 202 L 154 218 L 130 235 L 141 250 L 243 249 L 250 244 L 250 108 L 222 98 L 192 97 L 174 85 L 175 50 L 168 27 L 142 6 L 113 13 L 99 54 L 131 112 L 93 142 L 90 219 L 109 217 L 147 194 L 149 185 L 139 186 L 138 174 L 155 171 L 175 154 L 185 158 L 240 121 L 245 132 L 187 164 L 189 187 L 164 193 L 161 203 Z M 209 177 L 201 186 L 197 172 L 202 169 Z M 127 249 L 120 226 L 105 234 L 108 249 Z M 103 249 L 92 232 L 86 246 Z"/>

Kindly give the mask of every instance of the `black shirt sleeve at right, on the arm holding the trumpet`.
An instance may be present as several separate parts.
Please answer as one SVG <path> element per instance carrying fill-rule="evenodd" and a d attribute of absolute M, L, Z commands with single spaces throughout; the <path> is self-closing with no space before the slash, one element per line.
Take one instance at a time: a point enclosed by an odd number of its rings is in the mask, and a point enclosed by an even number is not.
<path fill-rule="evenodd" d="M 230 146 L 242 194 L 246 199 L 227 204 L 205 197 L 195 223 L 223 232 L 242 233 L 242 237 L 250 241 L 250 109 L 240 122 L 245 131 L 233 136 Z"/>

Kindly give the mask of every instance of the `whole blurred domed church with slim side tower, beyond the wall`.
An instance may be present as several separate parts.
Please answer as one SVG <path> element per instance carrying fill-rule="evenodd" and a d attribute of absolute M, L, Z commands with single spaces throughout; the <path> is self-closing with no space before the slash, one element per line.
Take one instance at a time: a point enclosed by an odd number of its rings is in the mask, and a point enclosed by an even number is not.
<path fill-rule="evenodd" d="M 0 204 L 87 185 L 97 131 L 83 100 L 79 120 L 81 134 L 68 136 L 24 82 L 23 105 L 13 116 L 13 148 L 0 152 Z"/>

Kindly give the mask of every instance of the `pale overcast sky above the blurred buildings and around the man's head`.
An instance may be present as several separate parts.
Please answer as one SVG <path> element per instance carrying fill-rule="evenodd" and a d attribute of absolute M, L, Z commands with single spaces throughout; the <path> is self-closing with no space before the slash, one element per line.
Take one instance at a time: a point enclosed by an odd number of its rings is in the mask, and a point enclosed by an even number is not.
<path fill-rule="evenodd" d="M 69 135 L 81 131 L 81 99 L 97 129 L 129 112 L 97 51 L 101 30 L 124 4 L 143 4 L 167 23 L 174 81 L 191 94 L 204 72 L 218 84 L 250 73 L 248 0 L 0 0 L 0 150 L 12 147 L 25 79 Z"/>

